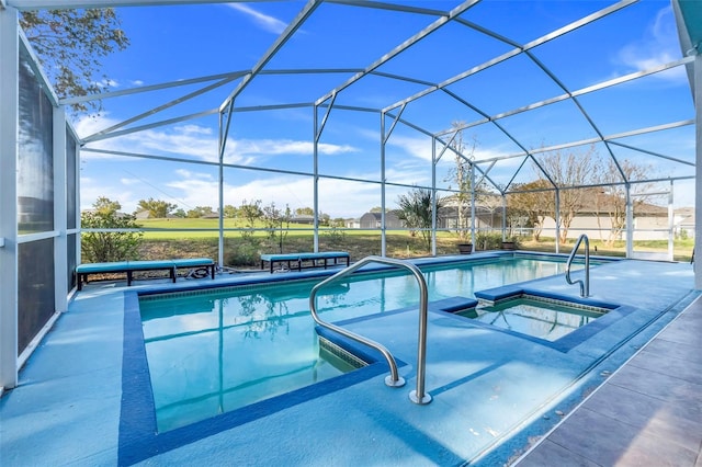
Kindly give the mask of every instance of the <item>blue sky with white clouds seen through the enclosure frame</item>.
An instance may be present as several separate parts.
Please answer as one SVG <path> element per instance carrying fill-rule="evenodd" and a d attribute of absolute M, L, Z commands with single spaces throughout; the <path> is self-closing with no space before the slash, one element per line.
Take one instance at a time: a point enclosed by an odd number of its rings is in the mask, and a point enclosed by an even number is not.
<path fill-rule="evenodd" d="M 458 2 L 403 2 L 412 7 L 451 10 Z M 610 1 L 500 1 L 487 0 L 461 18 L 480 24 L 519 44 L 528 44 L 573 21 L 612 4 Z M 252 68 L 274 43 L 304 2 L 258 2 L 189 7 L 120 9 L 123 29 L 132 45 L 105 60 L 105 75 L 114 90 L 125 90 Z M 264 70 L 310 68 L 365 68 L 431 24 L 435 16 L 321 4 Z M 551 69 L 568 91 L 577 91 L 627 73 L 681 58 L 668 1 L 642 1 L 596 24 L 575 30 L 533 48 L 533 55 Z M 457 22 L 449 23 L 377 68 L 377 71 L 412 77 L 424 83 L 366 77 L 337 96 L 336 104 L 383 109 L 419 91 L 484 64 L 512 47 Z M 237 107 L 310 103 L 346 82 L 353 71 L 315 75 L 261 75 L 237 98 Z M 239 83 L 215 89 L 163 112 L 147 116 L 131 128 L 219 107 Z M 104 100 L 99 117 L 76 122 L 81 137 L 178 99 L 210 83 L 165 89 Z M 448 89 L 487 115 L 526 106 L 564 93 L 552 79 L 523 55 L 451 84 Z M 636 82 L 620 84 L 579 98 L 604 135 L 663 125 L 693 117 L 693 106 L 682 67 Z M 434 92 L 409 104 L 403 118 L 428 132 L 441 132 L 451 123 L 478 122 L 483 116 L 446 93 Z M 318 118 L 321 121 L 321 116 Z M 321 212 L 332 217 L 359 217 L 381 204 L 380 115 L 333 110 L 319 139 L 319 172 L 332 175 L 319 182 Z M 390 121 L 386 122 L 389 127 Z M 582 140 L 597 136 L 573 102 L 551 104 L 499 119 L 500 125 L 528 149 Z M 291 208 L 313 205 L 313 182 L 297 172 L 313 171 L 312 107 L 236 113 L 225 160 L 240 168 L 225 170 L 225 204 L 244 200 L 274 202 Z M 476 160 L 489 160 L 521 149 L 492 124 L 465 132 L 475 139 Z M 676 128 L 621 139 L 629 146 L 693 161 L 693 127 Z M 199 162 L 217 159 L 217 116 L 207 115 L 145 132 L 91 143 L 88 147 Z M 602 145 L 597 149 L 605 155 Z M 575 151 L 585 148 L 574 149 Z M 629 149 L 618 157 L 650 168 L 660 176 L 693 174 L 693 168 Z M 386 147 L 388 182 L 431 185 L 431 139 L 399 124 Z M 604 157 L 604 156 L 602 156 Z M 81 206 L 98 196 L 118 201 L 134 210 L 148 197 L 176 203 L 188 210 L 217 205 L 214 166 L 165 163 L 84 151 L 81 164 Z M 452 157 L 442 159 L 437 183 L 446 187 Z M 522 158 L 479 167 L 496 183 L 508 183 Z M 246 168 L 282 169 L 293 173 L 257 172 Z M 533 180 L 526 164 L 516 182 Z M 349 179 L 349 180 L 343 180 Z M 679 186 L 679 187 L 678 187 Z M 686 189 L 686 186 L 688 186 Z M 676 184 L 676 204 L 691 205 L 689 183 Z M 386 203 L 394 207 L 405 187 L 388 189 Z"/>

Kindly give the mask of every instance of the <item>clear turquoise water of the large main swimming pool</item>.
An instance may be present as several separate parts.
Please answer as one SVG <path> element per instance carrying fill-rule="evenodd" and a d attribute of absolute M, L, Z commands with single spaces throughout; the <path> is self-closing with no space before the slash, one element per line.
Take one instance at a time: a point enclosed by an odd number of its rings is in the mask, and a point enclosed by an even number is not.
<path fill-rule="evenodd" d="M 429 300 L 564 272 L 553 260 L 503 258 L 422 267 Z M 309 316 L 315 282 L 230 287 L 141 297 L 158 430 L 172 430 L 340 375 L 320 357 Z M 324 289 L 327 321 L 416 306 L 414 276 L 373 273 Z"/>

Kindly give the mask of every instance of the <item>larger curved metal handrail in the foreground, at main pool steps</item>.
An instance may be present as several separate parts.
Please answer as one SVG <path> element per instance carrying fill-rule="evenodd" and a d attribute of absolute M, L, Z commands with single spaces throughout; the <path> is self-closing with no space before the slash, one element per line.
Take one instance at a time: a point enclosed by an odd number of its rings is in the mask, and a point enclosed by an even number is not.
<path fill-rule="evenodd" d="M 319 284 L 315 285 L 309 293 L 309 311 L 312 318 L 317 322 L 317 324 L 330 329 L 335 332 L 338 332 L 341 335 L 344 335 L 349 339 L 352 339 L 356 342 L 360 342 L 364 345 L 373 348 L 381 352 L 387 364 L 390 367 L 390 374 L 385 377 L 385 384 L 390 387 L 401 387 L 405 386 L 405 379 L 399 376 L 397 373 L 397 363 L 395 363 L 395 358 L 393 354 L 382 344 L 372 341 L 371 339 L 366 339 L 362 335 L 355 334 L 347 329 L 340 328 L 336 324 L 332 324 L 327 321 L 322 321 L 317 314 L 317 292 L 324 286 L 339 281 L 341 277 L 344 277 L 354 271 L 363 267 L 370 263 L 381 263 L 395 265 L 399 267 L 404 267 L 409 270 L 417 278 L 417 284 L 419 285 L 419 344 L 417 350 L 417 389 L 409 392 L 409 399 L 418 405 L 424 405 L 431 402 L 431 396 L 424 392 L 424 371 L 426 371 L 426 360 L 427 360 L 427 301 L 428 301 L 428 292 L 427 292 L 427 281 L 424 281 L 424 276 L 419 271 L 419 267 L 411 263 L 407 263 L 401 260 L 396 260 L 393 258 L 383 258 L 383 257 L 366 257 L 361 261 L 352 264 L 351 266 L 339 271 L 331 277 L 327 277 L 321 281 Z"/>

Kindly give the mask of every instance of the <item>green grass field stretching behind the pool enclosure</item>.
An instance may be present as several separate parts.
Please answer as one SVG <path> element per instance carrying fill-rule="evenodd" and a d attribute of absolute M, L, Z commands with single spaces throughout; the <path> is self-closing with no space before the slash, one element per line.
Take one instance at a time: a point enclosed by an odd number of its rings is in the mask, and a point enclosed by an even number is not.
<path fill-rule="evenodd" d="M 148 229 L 144 234 L 139 254 L 143 259 L 207 257 L 217 258 L 218 220 L 217 219 L 146 219 L 139 225 Z M 225 219 L 225 229 L 244 229 L 245 225 L 238 219 Z M 263 228 L 261 224 L 258 226 Z M 192 229 L 192 230 L 191 230 Z M 190 230 L 190 231 L 182 231 Z M 438 254 L 457 253 L 457 236 L 452 232 L 439 232 L 437 239 Z M 561 246 L 561 252 L 569 252 L 574 242 Z M 292 224 L 282 246 L 283 252 L 313 251 L 314 237 L 309 225 Z M 477 244 L 478 249 L 482 246 Z M 603 241 L 590 239 L 590 248 L 597 254 L 624 257 L 626 254 L 623 241 L 608 246 Z M 492 246 L 491 248 L 499 248 Z M 553 238 L 542 238 L 536 242 L 530 238 L 520 239 L 523 250 L 554 252 Z M 676 240 L 675 259 L 689 261 L 692 254 L 693 240 Z M 235 267 L 256 267 L 259 265 L 259 254 L 280 252 L 280 243 L 272 241 L 265 231 L 257 231 L 250 241 L 246 241 L 241 231 L 225 232 L 224 263 Z M 351 260 L 358 261 L 370 254 L 381 254 L 381 232 L 378 230 L 335 230 L 320 228 L 319 250 L 342 250 L 351 253 Z M 666 252 L 668 242 L 636 241 L 635 251 Z M 427 257 L 431 251 L 426 248 L 419 235 L 412 237 L 409 230 L 389 231 L 386 236 L 387 255 L 393 258 Z"/>

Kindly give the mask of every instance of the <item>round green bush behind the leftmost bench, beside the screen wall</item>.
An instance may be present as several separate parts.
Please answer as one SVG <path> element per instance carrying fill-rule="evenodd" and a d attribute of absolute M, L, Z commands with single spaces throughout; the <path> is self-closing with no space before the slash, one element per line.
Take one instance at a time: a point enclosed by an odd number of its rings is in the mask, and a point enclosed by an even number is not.
<path fill-rule="evenodd" d="M 99 197 L 93 210 L 83 212 L 80 216 L 82 229 L 134 229 L 139 225 L 134 216 L 120 213 L 118 202 Z M 126 231 L 83 231 L 81 235 L 81 252 L 86 261 L 101 263 L 110 261 L 135 260 L 141 232 Z"/>

